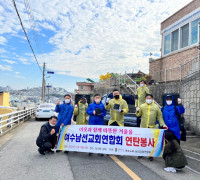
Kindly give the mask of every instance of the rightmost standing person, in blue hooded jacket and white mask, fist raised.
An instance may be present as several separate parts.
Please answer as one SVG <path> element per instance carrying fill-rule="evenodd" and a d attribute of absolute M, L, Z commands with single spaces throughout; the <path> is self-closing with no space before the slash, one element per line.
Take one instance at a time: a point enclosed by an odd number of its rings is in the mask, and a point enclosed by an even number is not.
<path fill-rule="evenodd" d="M 181 116 L 181 114 L 185 112 L 185 108 L 181 104 L 181 99 L 178 99 L 178 106 L 175 106 L 174 96 L 167 95 L 165 98 L 165 106 L 161 110 L 163 112 L 163 119 L 164 119 L 165 124 L 168 127 L 168 130 L 173 133 L 175 139 L 180 144 L 181 122 L 179 122 L 179 117 Z"/>

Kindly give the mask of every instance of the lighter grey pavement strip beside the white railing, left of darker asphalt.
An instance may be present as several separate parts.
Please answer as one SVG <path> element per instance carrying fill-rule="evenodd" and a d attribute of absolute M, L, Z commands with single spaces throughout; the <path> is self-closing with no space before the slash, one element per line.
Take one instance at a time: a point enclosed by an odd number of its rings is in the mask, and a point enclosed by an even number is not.
<path fill-rule="evenodd" d="M 0 137 L 0 180 L 73 180 L 64 153 L 38 153 L 35 141 L 44 123 L 31 120 Z"/>

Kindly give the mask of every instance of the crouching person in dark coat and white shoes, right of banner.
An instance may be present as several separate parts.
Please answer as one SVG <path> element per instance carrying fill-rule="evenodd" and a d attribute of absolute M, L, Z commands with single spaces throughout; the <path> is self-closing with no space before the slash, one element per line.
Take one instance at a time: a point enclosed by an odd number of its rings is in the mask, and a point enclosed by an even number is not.
<path fill-rule="evenodd" d="M 187 165 L 187 160 L 183 151 L 178 144 L 177 140 L 171 132 L 165 133 L 165 149 L 163 158 L 165 160 L 165 171 L 175 173 L 177 170 L 181 170 Z"/>

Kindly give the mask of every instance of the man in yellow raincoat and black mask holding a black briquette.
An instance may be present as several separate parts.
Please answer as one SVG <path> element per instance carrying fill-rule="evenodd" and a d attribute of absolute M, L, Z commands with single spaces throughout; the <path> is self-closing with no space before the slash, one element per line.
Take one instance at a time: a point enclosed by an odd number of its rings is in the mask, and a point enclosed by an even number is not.
<path fill-rule="evenodd" d="M 113 90 L 113 99 L 107 99 L 105 108 L 110 110 L 109 126 L 124 126 L 124 114 L 128 113 L 129 108 L 117 89 Z"/>

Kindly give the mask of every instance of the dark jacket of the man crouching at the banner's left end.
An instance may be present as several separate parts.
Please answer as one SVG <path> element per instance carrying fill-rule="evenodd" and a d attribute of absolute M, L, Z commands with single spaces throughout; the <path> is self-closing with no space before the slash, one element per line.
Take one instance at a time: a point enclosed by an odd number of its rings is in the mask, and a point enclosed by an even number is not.
<path fill-rule="evenodd" d="M 39 136 L 36 140 L 36 144 L 40 146 L 40 145 L 43 145 L 45 142 L 50 142 L 52 144 L 52 147 L 54 147 L 55 144 L 57 143 L 56 133 L 51 135 L 50 132 L 52 129 L 55 129 L 55 128 L 56 127 L 50 126 L 49 122 L 46 122 L 45 124 L 43 124 L 40 129 Z"/>

